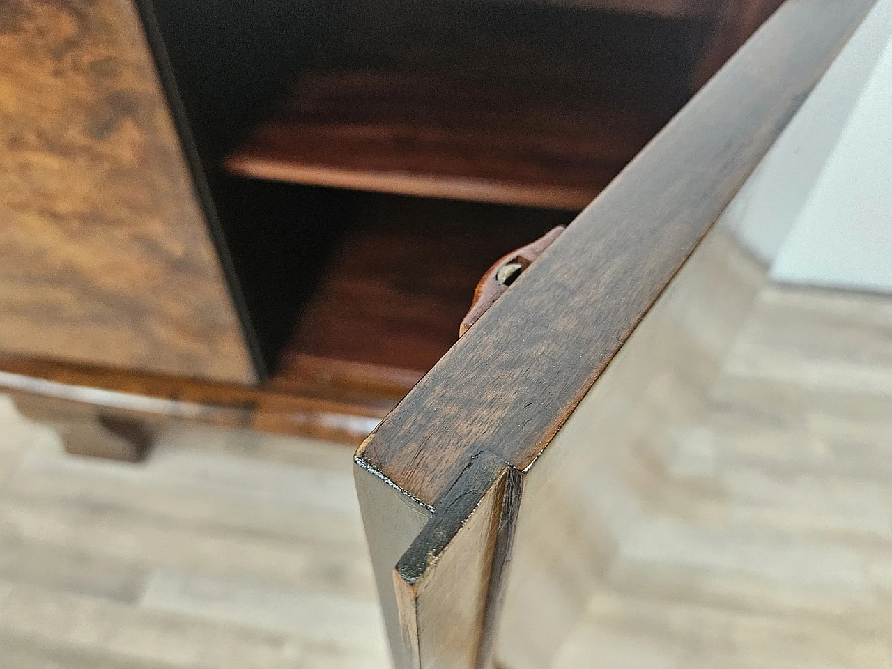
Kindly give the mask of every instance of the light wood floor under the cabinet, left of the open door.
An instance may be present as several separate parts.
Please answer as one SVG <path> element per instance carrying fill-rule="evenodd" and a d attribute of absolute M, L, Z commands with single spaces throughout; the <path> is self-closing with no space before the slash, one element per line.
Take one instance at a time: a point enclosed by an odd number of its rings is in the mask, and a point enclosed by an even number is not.
<path fill-rule="evenodd" d="M 2 669 L 387 665 L 351 448 L 175 426 L 73 458 L 0 400 Z"/>

